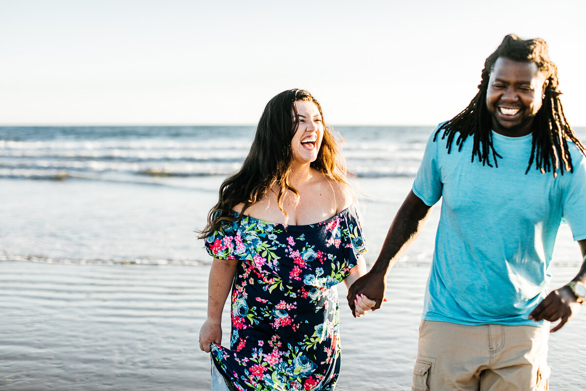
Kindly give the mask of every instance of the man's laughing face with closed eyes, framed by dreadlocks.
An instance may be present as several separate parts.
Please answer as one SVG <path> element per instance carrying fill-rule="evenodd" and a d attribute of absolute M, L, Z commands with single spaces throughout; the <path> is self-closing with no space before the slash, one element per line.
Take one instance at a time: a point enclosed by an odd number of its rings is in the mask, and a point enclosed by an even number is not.
<path fill-rule="evenodd" d="M 537 64 L 499 57 L 486 90 L 492 129 L 509 137 L 530 134 L 546 86 L 546 78 L 538 72 Z"/>

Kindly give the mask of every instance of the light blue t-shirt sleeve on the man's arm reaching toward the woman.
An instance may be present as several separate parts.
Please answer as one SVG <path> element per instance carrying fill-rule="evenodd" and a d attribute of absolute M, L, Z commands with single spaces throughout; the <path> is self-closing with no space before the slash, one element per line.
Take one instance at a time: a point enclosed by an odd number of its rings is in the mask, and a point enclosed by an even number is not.
<path fill-rule="evenodd" d="M 438 144 L 441 143 L 440 134 L 438 134 L 438 140 L 434 142 L 437 130 L 438 128 L 435 128 L 427 141 L 423 160 L 413 182 L 413 193 L 428 206 L 432 206 L 440 200 L 443 188 L 438 165 Z"/>

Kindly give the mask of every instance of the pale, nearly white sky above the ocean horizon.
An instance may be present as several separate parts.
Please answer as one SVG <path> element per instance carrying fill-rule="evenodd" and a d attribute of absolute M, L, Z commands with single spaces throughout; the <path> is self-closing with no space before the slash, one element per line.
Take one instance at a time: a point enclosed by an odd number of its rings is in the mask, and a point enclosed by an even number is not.
<path fill-rule="evenodd" d="M 0 0 L 0 125 L 255 124 L 291 88 L 333 125 L 434 125 L 516 33 L 547 40 L 586 126 L 585 4 Z"/>

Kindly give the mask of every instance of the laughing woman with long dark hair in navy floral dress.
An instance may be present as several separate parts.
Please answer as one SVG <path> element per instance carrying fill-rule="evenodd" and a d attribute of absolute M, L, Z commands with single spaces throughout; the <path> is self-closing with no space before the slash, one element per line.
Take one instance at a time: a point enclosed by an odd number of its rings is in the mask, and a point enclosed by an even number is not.
<path fill-rule="evenodd" d="M 333 390 L 335 285 L 365 271 L 348 174 L 311 94 L 287 90 L 269 101 L 243 166 L 220 186 L 200 233 L 215 258 L 199 334 L 200 349 L 212 352 L 213 390 Z M 220 321 L 230 288 L 226 349 Z M 357 315 L 374 304 L 357 298 Z"/>

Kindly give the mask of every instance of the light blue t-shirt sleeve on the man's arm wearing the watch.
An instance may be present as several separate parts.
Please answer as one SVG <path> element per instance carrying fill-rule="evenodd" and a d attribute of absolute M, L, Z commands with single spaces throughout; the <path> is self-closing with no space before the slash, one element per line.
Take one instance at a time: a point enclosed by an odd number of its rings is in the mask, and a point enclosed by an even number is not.
<path fill-rule="evenodd" d="M 574 172 L 567 178 L 562 203 L 563 219 L 570 226 L 574 240 L 582 240 L 586 239 L 586 157 L 573 144 L 570 147 L 575 151 L 571 155 Z"/>

